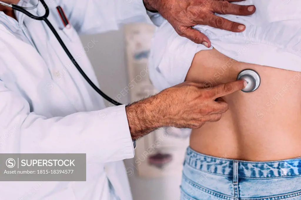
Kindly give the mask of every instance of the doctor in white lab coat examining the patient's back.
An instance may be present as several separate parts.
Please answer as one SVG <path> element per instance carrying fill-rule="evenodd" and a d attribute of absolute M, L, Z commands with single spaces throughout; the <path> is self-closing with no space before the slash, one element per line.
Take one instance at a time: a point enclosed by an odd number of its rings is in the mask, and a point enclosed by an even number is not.
<path fill-rule="evenodd" d="M 35 0 L 4 0 L 32 6 Z M 236 2 L 239 0 L 236 0 Z M 231 0 L 229 2 L 235 2 Z M 156 11 L 179 34 L 210 46 L 195 24 L 241 32 L 245 27 L 216 17 L 253 14 L 253 6 L 216 0 L 48 0 L 48 20 L 98 86 L 78 34 L 115 30 L 123 23 L 150 22 Z M 64 25 L 61 6 L 70 24 Z M 86 182 L 0 182 L 1 200 L 130 200 L 122 160 L 134 156 L 133 140 L 162 126 L 197 128 L 219 120 L 227 103 L 216 98 L 244 87 L 241 81 L 211 90 L 184 83 L 128 106 L 105 108 L 44 22 L 0 7 L 0 153 L 86 153 Z M 43 14 L 40 4 L 30 11 Z"/>

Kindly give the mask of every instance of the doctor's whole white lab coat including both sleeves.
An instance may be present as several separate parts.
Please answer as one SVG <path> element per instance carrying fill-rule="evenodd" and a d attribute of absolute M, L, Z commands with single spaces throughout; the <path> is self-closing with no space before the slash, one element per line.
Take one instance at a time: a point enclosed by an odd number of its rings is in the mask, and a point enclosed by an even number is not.
<path fill-rule="evenodd" d="M 82 45 L 77 33 L 150 22 L 142 0 L 45 2 L 50 8 L 48 20 L 97 86 L 85 52 L 98 41 Z M 28 6 L 30 1 L 21 0 L 19 5 Z M 64 28 L 58 5 L 72 26 Z M 40 4 L 30 12 L 44 14 L 44 8 Z M 16 16 L 18 22 L 0 12 L 0 153 L 86 153 L 87 178 L 86 182 L 0 182 L 0 200 L 109 200 L 108 178 L 121 200 L 132 199 L 122 161 L 134 156 L 125 106 L 104 109 L 103 99 L 79 74 L 45 23 L 20 12 Z"/>

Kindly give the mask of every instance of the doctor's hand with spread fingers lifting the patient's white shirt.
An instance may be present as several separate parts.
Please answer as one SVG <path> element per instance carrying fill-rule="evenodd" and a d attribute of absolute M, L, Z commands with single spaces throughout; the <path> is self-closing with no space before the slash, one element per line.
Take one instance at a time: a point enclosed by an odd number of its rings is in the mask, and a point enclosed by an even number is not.
<path fill-rule="evenodd" d="M 206 35 L 192 27 L 208 25 L 232 32 L 243 32 L 245 26 L 240 23 L 218 17 L 214 13 L 251 15 L 256 8 L 253 5 L 237 5 L 229 2 L 244 0 L 143 0 L 149 11 L 158 11 L 178 32 L 195 43 L 210 47 Z"/>

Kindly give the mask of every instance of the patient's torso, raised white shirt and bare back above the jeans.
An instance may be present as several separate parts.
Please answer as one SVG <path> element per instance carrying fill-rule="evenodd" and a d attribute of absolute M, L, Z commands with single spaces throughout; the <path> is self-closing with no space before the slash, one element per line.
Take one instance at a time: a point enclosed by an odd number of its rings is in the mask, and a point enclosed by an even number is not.
<path fill-rule="evenodd" d="M 256 70 L 261 77 L 259 88 L 225 96 L 229 110 L 219 122 L 194 130 L 191 147 L 212 156 L 253 161 L 299 157 L 301 1 L 235 3 L 256 6 L 256 13 L 250 16 L 222 15 L 245 24 L 244 32 L 194 27 L 208 36 L 213 50 L 179 36 L 169 23 L 163 23 L 153 40 L 151 80 L 162 90 L 183 82 L 190 68 L 186 80 L 218 85 L 236 80 L 244 69 Z"/>

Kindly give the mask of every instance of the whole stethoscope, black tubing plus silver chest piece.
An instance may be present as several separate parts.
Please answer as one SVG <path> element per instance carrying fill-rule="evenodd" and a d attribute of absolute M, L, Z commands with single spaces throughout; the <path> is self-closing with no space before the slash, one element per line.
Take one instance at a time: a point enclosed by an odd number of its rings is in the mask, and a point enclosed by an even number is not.
<path fill-rule="evenodd" d="M 29 13 L 27 10 L 32 10 L 38 7 L 39 2 L 42 3 L 42 5 L 45 8 L 45 14 L 43 16 L 35 16 L 31 13 Z M 12 8 L 16 11 L 20 11 L 21 13 L 27 15 L 28 17 L 34 19 L 34 20 L 40 20 L 40 21 L 44 21 L 47 26 L 49 27 L 49 29 L 53 32 L 53 34 L 55 35 L 55 37 L 57 38 L 57 41 L 61 44 L 62 48 L 64 49 L 64 51 L 66 52 L 67 56 L 69 57 L 69 59 L 72 61 L 72 63 L 74 64 L 74 66 L 77 68 L 77 70 L 79 71 L 80 74 L 82 74 L 82 76 L 85 78 L 85 80 L 89 83 L 90 86 L 92 86 L 92 88 L 98 93 L 100 94 L 104 99 L 106 99 L 107 101 L 113 103 L 114 105 L 122 105 L 119 102 L 116 102 L 115 100 L 113 100 L 112 98 L 110 98 L 109 96 L 107 96 L 104 92 L 102 92 L 90 79 L 89 77 L 85 74 L 85 72 L 82 70 L 82 68 L 79 66 L 79 64 L 76 62 L 76 60 L 73 58 L 72 54 L 70 53 L 70 51 L 68 50 L 68 48 L 66 47 L 66 45 L 64 44 L 63 40 L 61 39 L 61 37 L 58 35 L 57 31 L 54 29 L 54 27 L 52 26 L 52 24 L 49 22 L 49 20 L 47 19 L 47 17 L 49 16 L 49 9 L 48 6 L 46 5 L 44 0 L 38 0 L 38 3 L 32 7 L 21 7 L 15 4 L 8 4 L 5 2 L 0 1 L 0 5 L 4 5 L 6 7 Z M 239 73 L 237 80 L 241 80 L 244 79 L 247 81 L 247 86 L 242 89 L 241 91 L 243 92 L 253 92 L 255 91 L 259 85 L 260 85 L 260 76 L 259 74 L 251 69 L 247 69 L 247 70 L 243 70 Z"/>

